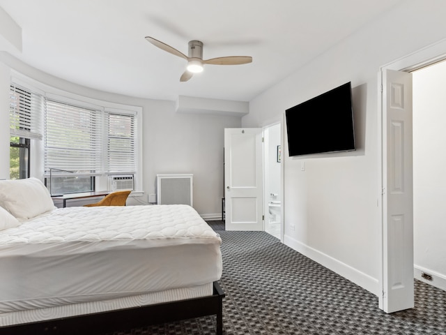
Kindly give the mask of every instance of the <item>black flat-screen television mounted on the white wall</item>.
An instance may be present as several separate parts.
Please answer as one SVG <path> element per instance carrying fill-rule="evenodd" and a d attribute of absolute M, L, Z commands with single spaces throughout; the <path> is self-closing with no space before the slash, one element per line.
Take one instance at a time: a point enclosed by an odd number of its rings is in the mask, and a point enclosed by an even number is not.
<path fill-rule="evenodd" d="M 286 110 L 289 156 L 355 150 L 351 82 Z"/>

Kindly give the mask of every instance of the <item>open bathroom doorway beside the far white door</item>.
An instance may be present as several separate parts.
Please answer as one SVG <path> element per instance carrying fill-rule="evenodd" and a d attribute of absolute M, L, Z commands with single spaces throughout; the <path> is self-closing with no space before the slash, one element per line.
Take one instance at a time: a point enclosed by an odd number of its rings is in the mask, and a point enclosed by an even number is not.
<path fill-rule="evenodd" d="M 265 231 L 272 236 L 282 235 L 282 147 L 279 123 L 263 128 L 263 208 Z"/>

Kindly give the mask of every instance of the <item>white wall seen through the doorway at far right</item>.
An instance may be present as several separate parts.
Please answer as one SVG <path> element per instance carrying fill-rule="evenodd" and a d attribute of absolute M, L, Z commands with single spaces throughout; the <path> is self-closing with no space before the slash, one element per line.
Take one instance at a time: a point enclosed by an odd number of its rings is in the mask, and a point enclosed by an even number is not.
<path fill-rule="evenodd" d="M 446 289 L 446 62 L 413 73 L 414 263 Z"/>

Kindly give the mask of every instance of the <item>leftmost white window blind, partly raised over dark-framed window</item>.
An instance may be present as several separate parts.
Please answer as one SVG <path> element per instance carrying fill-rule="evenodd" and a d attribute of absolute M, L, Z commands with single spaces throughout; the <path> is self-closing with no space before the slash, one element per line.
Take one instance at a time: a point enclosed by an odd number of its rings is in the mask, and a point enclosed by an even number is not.
<path fill-rule="evenodd" d="M 45 98 L 17 84 L 10 85 L 10 135 L 42 138 Z"/>

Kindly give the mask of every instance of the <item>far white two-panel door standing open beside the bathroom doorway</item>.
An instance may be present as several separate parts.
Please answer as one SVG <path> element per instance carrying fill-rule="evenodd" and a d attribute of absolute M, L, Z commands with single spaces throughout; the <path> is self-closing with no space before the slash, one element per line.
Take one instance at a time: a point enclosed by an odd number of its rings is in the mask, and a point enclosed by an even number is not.
<path fill-rule="evenodd" d="M 263 230 L 261 128 L 224 130 L 226 230 Z"/>

